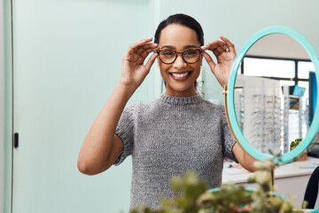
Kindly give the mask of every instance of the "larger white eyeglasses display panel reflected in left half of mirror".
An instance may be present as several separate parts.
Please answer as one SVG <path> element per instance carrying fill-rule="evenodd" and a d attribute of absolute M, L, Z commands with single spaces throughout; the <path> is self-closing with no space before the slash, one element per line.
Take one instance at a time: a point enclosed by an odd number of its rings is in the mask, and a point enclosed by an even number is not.
<path fill-rule="evenodd" d="M 279 82 L 254 76 L 239 78 L 243 89 L 237 90 L 235 103 L 239 107 L 237 121 L 245 138 L 262 153 L 268 153 L 269 149 L 278 150 L 278 147 L 283 149 L 283 110 Z"/>

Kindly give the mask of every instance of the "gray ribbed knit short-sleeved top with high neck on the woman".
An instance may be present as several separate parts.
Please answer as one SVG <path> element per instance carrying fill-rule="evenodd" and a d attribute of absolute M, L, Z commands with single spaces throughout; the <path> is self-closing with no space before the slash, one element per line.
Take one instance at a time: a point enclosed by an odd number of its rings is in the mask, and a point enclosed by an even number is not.
<path fill-rule="evenodd" d="M 149 103 L 128 106 L 115 133 L 124 150 L 114 165 L 132 154 L 130 208 L 159 206 L 160 197 L 171 197 L 169 179 L 194 170 L 209 188 L 222 184 L 222 162 L 235 141 L 223 106 L 200 96 L 161 95 Z"/>

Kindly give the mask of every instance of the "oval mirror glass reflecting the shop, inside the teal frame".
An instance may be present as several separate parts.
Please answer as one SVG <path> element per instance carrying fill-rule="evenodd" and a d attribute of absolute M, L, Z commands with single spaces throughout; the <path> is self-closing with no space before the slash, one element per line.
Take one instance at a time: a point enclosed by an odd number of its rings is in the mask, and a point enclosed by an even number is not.
<path fill-rule="evenodd" d="M 234 86 L 237 123 L 247 142 L 262 154 L 291 152 L 292 141 L 306 138 L 313 120 L 315 85 L 314 63 L 292 36 L 270 34 L 253 43 Z"/>

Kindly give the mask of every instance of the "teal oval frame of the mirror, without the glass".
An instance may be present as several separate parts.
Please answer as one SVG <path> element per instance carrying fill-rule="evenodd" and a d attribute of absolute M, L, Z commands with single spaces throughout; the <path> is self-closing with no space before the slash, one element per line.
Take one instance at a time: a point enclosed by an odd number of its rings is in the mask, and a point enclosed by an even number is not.
<path fill-rule="evenodd" d="M 262 161 L 263 159 L 272 158 L 270 154 L 263 154 L 257 151 L 245 138 L 243 131 L 240 129 L 239 124 L 237 122 L 237 116 L 235 112 L 235 105 L 234 105 L 234 89 L 235 89 L 235 82 L 237 78 L 237 70 L 245 57 L 246 52 L 253 46 L 254 43 L 259 41 L 262 37 L 268 36 L 271 34 L 284 34 L 287 36 L 292 36 L 296 41 L 298 41 L 307 51 L 311 61 L 314 63 L 315 66 L 315 80 L 319 83 L 319 59 L 315 53 L 314 48 L 311 44 L 307 41 L 304 36 L 301 36 L 300 33 L 293 30 L 292 28 L 286 28 L 281 26 L 269 27 L 264 28 L 258 33 L 254 34 L 252 37 L 248 39 L 248 41 L 243 45 L 243 47 L 238 51 L 237 57 L 231 67 L 230 71 L 230 79 L 228 83 L 228 90 L 227 90 L 227 111 L 229 114 L 230 119 L 230 126 L 235 134 L 235 138 L 237 138 L 237 142 L 245 149 L 245 151 L 252 155 L 253 158 Z M 319 121 L 319 92 L 317 92 L 317 102 L 315 106 L 315 114 L 313 117 L 313 121 Z M 292 149 L 291 152 L 287 154 L 283 154 L 281 157 L 281 161 L 276 161 L 278 163 L 286 163 L 292 162 L 294 158 L 299 156 L 304 150 L 307 149 L 307 146 L 310 145 L 312 140 L 315 138 L 315 134 L 319 129 L 319 122 L 312 122 L 309 130 L 307 132 L 306 138 L 302 140 L 299 146 L 296 146 Z"/>

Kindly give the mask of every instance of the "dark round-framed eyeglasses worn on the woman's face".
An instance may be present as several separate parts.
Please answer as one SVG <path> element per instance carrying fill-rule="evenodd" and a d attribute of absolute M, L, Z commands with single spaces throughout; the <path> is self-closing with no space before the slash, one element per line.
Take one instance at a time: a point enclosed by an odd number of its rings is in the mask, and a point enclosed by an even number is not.
<path fill-rule="evenodd" d="M 177 59 L 177 54 L 181 53 L 183 60 L 188 64 L 198 62 L 199 56 L 202 52 L 199 48 L 191 48 L 183 51 L 175 51 L 171 49 L 163 49 L 156 51 L 159 54 L 159 59 L 164 64 L 172 64 Z"/>

